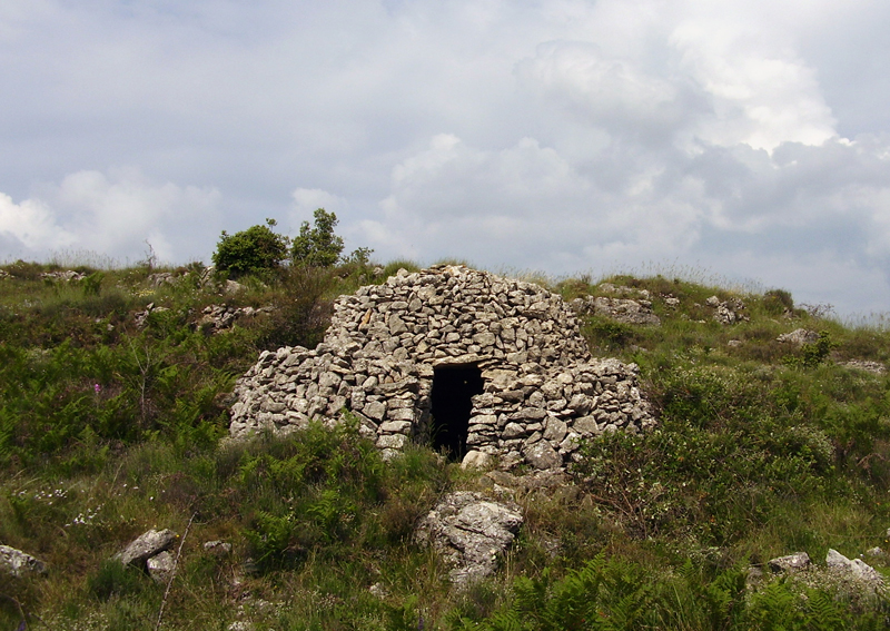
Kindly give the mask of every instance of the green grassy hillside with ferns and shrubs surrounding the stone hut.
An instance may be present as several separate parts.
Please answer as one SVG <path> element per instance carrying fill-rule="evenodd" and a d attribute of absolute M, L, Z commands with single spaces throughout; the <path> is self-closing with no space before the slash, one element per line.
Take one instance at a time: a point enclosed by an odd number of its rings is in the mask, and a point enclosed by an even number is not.
<path fill-rule="evenodd" d="M 0 266 L 0 544 L 46 563 L 0 572 L 0 629 L 887 627 L 883 590 L 825 559 L 890 568 L 890 333 L 787 292 L 542 282 L 657 422 L 585 438 L 556 482 L 428 444 L 384 461 L 350 423 L 224 440 L 263 351 L 315 347 L 336 296 L 399 268 Z M 451 491 L 524 516 L 463 589 L 414 539 Z M 179 535 L 169 589 L 111 559 L 150 529 Z M 770 568 L 798 552 L 811 569 Z"/>

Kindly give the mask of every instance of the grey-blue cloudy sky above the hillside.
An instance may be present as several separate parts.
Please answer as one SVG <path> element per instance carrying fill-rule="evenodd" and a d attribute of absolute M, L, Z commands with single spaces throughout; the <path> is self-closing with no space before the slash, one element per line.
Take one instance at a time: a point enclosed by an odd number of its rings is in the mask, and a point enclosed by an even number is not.
<path fill-rule="evenodd" d="M 884 0 L 2 0 L 0 260 L 347 248 L 890 310 Z"/>

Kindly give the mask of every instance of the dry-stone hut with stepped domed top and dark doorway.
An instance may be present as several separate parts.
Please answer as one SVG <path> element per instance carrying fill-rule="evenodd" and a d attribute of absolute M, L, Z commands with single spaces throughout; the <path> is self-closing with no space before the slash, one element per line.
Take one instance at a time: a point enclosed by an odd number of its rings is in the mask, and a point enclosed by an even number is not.
<path fill-rule="evenodd" d="M 462 265 L 340 296 L 314 349 L 264 352 L 237 383 L 230 435 L 358 420 L 385 457 L 426 442 L 466 466 L 557 469 L 578 442 L 654 425 L 637 367 L 591 358 L 546 289 Z"/>

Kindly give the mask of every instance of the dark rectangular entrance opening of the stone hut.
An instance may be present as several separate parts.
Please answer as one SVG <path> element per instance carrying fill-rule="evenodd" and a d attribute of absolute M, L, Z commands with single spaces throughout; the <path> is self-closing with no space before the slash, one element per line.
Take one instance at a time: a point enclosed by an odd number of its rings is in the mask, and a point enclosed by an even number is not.
<path fill-rule="evenodd" d="M 466 453 L 471 397 L 482 394 L 482 371 L 477 366 L 449 366 L 433 373 L 433 448 L 444 451 L 451 460 L 462 460 Z"/>

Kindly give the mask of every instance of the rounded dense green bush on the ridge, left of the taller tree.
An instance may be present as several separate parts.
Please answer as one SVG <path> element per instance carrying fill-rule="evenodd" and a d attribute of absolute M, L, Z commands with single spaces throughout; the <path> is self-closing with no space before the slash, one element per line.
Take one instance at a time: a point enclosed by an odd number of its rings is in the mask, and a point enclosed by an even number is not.
<path fill-rule="evenodd" d="M 277 268 L 287 258 L 289 243 L 273 230 L 276 225 L 275 219 L 266 219 L 265 226 L 253 226 L 234 235 L 222 230 L 214 254 L 216 268 L 235 276 Z"/>

